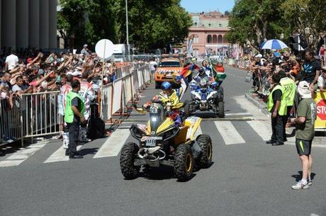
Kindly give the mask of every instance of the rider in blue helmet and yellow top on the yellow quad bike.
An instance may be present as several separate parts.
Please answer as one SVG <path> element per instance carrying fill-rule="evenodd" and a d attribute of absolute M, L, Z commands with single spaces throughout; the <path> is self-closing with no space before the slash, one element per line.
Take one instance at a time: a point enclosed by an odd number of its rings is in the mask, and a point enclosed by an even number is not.
<path fill-rule="evenodd" d="M 153 101 L 162 101 L 167 107 L 168 113 L 167 115 L 169 118 L 174 120 L 175 125 L 182 125 L 182 115 L 179 108 L 175 106 L 180 103 L 178 93 L 172 89 L 172 84 L 168 81 L 164 81 L 162 83 L 162 91 L 157 95 L 154 96 Z M 147 108 L 150 106 L 150 102 L 145 103 L 142 107 Z"/>

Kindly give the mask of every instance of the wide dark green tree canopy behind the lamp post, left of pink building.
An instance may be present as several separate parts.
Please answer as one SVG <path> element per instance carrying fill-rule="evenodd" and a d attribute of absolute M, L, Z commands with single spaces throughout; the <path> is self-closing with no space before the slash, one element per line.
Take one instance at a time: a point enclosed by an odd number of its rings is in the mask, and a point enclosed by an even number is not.
<path fill-rule="evenodd" d="M 60 0 L 58 29 L 69 47 L 101 38 L 125 43 L 125 0 Z M 129 42 L 141 50 L 183 42 L 191 17 L 179 0 L 128 0 Z"/>

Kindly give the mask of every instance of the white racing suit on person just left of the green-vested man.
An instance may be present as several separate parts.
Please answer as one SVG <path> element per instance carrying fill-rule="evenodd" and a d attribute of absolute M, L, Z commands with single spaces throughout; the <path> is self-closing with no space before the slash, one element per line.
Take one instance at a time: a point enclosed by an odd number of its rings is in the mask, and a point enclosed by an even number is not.
<path fill-rule="evenodd" d="M 68 149 L 69 145 L 69 132 L 68 132 L 68 126 L 66 123 L 64 123 L 64 109 L 66 107 L 66 100 L 67 100 L 67 94 L 72 91 L 72 86 L 69 84 L 64 84 L 60 88 L 60 94 L 57 97 L 57 103 L 59 106 L 59 115 L 62 120 L 60 122 L 63 124 L 63 132 L 62 132 L 62 140 L 63 140 L 63 147 L 64 149 Z"/>

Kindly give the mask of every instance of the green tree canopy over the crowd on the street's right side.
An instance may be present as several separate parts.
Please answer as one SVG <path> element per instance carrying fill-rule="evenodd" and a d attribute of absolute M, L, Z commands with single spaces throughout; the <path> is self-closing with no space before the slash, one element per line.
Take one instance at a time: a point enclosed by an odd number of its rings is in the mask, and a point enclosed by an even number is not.
<path fill-rule="evenodd" d="M 230 32 L 225 38 L 231 43 L 254 41 L 258 47 L 264 38 L 287 40 L 294 31 L 310 28 L 316 36 L 325 32 L 325 0 L 237 0 L 230 12 Z M 313 39 L 313 44 L 317 39 Z"/>

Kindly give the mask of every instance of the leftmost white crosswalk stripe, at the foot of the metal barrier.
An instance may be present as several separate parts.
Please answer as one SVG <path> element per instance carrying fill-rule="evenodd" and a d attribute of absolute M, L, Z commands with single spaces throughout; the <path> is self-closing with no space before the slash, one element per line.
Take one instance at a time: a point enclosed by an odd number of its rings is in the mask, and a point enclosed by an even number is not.
<path fill-rule="evenodd" d="M 10 157 L 4 159 L 4 161 L 0 161 L 0 167 L 18 166 L 35 152 L 42 149 L 47 143 L 48 142 L 35 143 L 31 144 L 29 147 L 19 149 L 18 152 L 13 153 Z"/>

